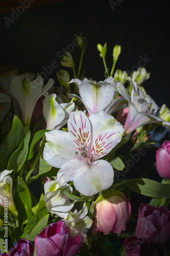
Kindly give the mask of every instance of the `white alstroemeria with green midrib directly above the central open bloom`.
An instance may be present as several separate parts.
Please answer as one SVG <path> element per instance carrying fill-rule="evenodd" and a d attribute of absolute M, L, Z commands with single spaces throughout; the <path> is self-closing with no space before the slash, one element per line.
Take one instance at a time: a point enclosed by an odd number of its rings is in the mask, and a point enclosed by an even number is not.
<path fill-rule="evenodd" d="M 122 97 L 113 100 L 116 90 L 114 87 L 114 78 L 109 77 L 104 81 L 95 83 L 94 81 L 87 80 L 83 81 L 79 79 L 72 79 L 70 82 L 78 84 L 80 97 L 75 94 L 70 94 L 71 97 L 79 98 L 85 105 L 89 116 L 92 113 L 100 110 L 105 110 L 111 114 L 119 109 L 122 109 L 120 105 L 125 101 Z"/>

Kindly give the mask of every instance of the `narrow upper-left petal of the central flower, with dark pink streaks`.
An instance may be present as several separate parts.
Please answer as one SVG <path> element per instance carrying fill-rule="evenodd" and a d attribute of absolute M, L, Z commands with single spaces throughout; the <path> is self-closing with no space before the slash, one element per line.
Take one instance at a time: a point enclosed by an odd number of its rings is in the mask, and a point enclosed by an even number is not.
<path fill-rule="evenodd" d="M 75 111 L 70 114 L 68 131 L 72 141 L 79 151 L 79 158 L 81 159 L 80 154 L 82 152 L 85 152 L 85 155 L 87 156 L 91 142 L 91 127 L 84 112 Z M 83 147 L 85 148 L 85 151 L 83 150 Z"/>

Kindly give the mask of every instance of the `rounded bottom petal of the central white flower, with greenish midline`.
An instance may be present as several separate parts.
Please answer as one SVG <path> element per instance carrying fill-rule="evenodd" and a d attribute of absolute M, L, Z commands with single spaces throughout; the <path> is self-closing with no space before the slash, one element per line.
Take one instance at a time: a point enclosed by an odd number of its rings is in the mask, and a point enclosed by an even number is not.
<path fill-rule="evenodd" d="M 85 196 L 93 196 L 109 188 L 113 183 L 113 167 L 105 160 L 86 164 L 88 169 L 74 180 L 75 188 Z"/>

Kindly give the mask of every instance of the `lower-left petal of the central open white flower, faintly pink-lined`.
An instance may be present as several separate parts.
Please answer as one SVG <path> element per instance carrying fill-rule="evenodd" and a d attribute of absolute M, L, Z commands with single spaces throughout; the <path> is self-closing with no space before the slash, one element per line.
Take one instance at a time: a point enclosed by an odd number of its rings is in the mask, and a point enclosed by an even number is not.
<path fill-rule="evenodd" d="M 57 182 L 60 186 L 63 186 L 66 182 L 74 181 L 84 175 L 88 168 L 89 164 L 84 164 L 83 161 L 78 159 L 72 159 L 62 165 L 57 174 Z"/>

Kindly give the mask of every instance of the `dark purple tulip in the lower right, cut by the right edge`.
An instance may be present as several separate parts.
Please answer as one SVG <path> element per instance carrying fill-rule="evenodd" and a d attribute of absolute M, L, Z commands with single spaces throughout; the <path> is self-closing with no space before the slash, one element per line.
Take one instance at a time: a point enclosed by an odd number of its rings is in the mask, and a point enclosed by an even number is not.
<path fill-rule="evenodd" d="M 152 243 L 166 244 L 170 238 L 170 211 L 149 204 L 139 206 L 136 236 Z"/>

